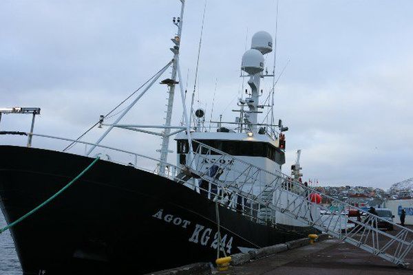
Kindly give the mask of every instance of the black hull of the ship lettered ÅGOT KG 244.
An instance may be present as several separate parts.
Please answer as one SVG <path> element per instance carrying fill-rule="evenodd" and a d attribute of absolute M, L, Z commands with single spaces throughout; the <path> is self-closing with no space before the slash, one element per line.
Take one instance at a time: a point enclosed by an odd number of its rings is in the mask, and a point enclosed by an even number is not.
<path fill-rule="evenodd" d="M 0 155 L 0 206 L 9 223 L 93 161 L 18 146 L 0 146 Z M 313 232 L 219 211 L 226 254 Z M 11 232 L 23 274 L 144 274 L 214 261 L 218 244 L 213 201 L 165 177 L 105 161 Z"/>

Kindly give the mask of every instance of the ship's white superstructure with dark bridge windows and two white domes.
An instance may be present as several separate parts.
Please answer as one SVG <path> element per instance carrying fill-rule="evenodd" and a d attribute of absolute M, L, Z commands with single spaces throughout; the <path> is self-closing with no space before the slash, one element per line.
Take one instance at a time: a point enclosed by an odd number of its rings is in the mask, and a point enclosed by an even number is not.
<path fill-rule="evenodd" d="M 260 90 L 261 79 L 266 76 L 273 76 L 264 74 L 264 54 L 272 52 L 272 47 L 273 39 L 268 32 L 257 32 L 253 35 L 251 49 L 247 50 L 242 56 L 241 69 L 246 73 L 242 77 L 248 78 L 250 90 L 246 91 L 248 94 L 246 98 L 240 98 L 237 104 L 240 109 L 233 110 L 239 112 L 239 116 L 233 122 L 210 122 L 216 123 L 216 126 L 211 128 L 204 126 L 205 111 L 203 109 L 195 111 L 195 123 L 191 127 L 193 129 L 191 131 L 192 149 L 195 153 L 195 166 L 201 169 L 200 173 L 213 175 L 215 179 L 220 181 L 222 186 L 235 186 L 241 192 L 260 197 L 264 201 L 275 203 L 274 198 L 277 197 L 277 203 L 280 206 L 288 206 L 290 201 L 301 203 L 301 195 L 297 194 L 302 192 L 302 190 L 286 183 L 287 191 L 280 196 L 274 192 L 266 192 L 268 186 L 273 184 L 274 181 L 274 177 L 271 174 L 262 173 L 258 176 L 260 179 L 257 179 L 257 181 L 253 179 L 246 180 L 240 177 L 240 171 L 248 169 L 248 164 L 260 167 L 271 173 L 281 173 L 282 165 L 285 164 L 285 135 L 282 132 L 287 131 L 288 128 L 282 125 L 281 120 L 279 120 L 277 125 L 258 123 L 258 114 L 262 113 L 262 110 L 266 108 L 273 107 L 269 104 L 265 106 L 260 104 L 260 96 L 262 95 L 262 90 Z M 213 130 L 208 131 L 208 129 Z M 187 133 L 179 133 L 176 135 L 175 140 L 177 142 L 178 166 L 182 168 L 189 166 L 191 163 L 189 160 L 191 159 L 191 146 L 189 146 Z M 231 162 L 230 159 L 226 159 L 216 152 L 199 151 L 200 144 L 198 142 L 237 157 L 242 162 L 229 163 Z M 220 165 L 216 164 L 218 157 L 220 158 Z M 297 159 L 297 167 L 299 167 L 298 162 L 299 159 Z M 193 184 L 200 186 L 201 190 L 211 189 L 211 185 L 202 186 L 201 180 L 192 180 L 196 181 Z M 234 196 L 232 195 L 232 197 Z M 315 217 L 318 215 L 317 209 L 310 211 L 303 209 L 303 215 Z M 262 220 L 271 219 L 286 225 L 304 226 L 303 223 L 269 208 L 260 208 L 257 216 Z"/>

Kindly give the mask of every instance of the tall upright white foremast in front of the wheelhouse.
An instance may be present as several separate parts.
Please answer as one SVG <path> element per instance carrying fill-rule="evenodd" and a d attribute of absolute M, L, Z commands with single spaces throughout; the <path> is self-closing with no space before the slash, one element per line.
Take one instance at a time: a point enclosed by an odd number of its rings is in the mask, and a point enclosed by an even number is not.
<path fill-rule="evenodd" d="M 175 44 L 171 47 L 171 52 L 173 52 L 173 63 L 172 63 L 172 73 L 171 79 L 163 80 L 162 83 L 167 84 L 169 86 L 168 92 L 168 104 L 167 104 L 167 116 L 165 118 L 165 130 L 162 132 L 162 145 L 160 148 L 160 162 L 159 162 L 159 174 L 165 174 L 165 162 L 167 161 L 168 157 L 168 148 L 169 148 L 169 134 L 171 133 L 171 129 L 168 128 L 171 126 L 171 119 L 172 119 L 172 107 L 173 107 L 173 96 L 175 94 L 175 86 L 178 84 L 176 81 L 177 77 L 177 63 L 179 59 L 179 50 L 180 50 L 180 39 L 182 34 L 182 23 L 184 19 L 184 5 L 185 0 L 180 0 L 181 2 L 181 11 L 180 17 L 177 19 L 173 17 L 173 24 L 178 27 L 178 34 L 175 36 L 171 41 Z"/>

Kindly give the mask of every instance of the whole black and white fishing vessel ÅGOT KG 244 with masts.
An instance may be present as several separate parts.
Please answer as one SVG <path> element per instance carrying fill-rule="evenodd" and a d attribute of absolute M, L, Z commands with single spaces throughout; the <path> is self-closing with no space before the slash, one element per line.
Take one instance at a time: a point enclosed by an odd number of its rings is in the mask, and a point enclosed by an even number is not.
<path fill-rule="evenodd" d="M 100 117 L 94 126 L 105 132 L 96 142 L 34 133 L 40 109 L 2 109 L 33 115 L 30 132 L 0 132 L 28 136 L 27 146 L 0 145 L 0 154 L 7 156 L 0 162 L 0 206 L 6 220 L 12 223 L 41 206 L 10 228 L 23 274 L 145 274 L 213 262 L 317 231 L 279 211 L 295 206 L 299 217 L 319 217 L 317 205 L 308 203 L 307 191 L 296 184 L 299 157 L 292 175 L 282 174 L 288 127 L 282 120 L 274 123 L 274 83 L 267 100 L 260 102 L 262 78 L 275 74 L 265 72 L 264 65 L 273 38 L 257 32 L 242 56 L 241 77 L 248 89 L 237 102 L 235 119 L 207 126 L 206 111 L 192 105 L 188 110 L 184 98 L 179 63 L 184 0 L 180 3 L 180 16 L 173 18 L 178 28 L 171 39 L 173 58 L 131 95 L 113 123 L 105 123 L 107 115 Z M 169 69 L 170 78 L 161 78 Z M 121 124 L 156 82 L 168 89 L 165 124 Z M 183 121 L 174 125 L 177 87 Z M 264 111 L 271 118 L 260 122 Z M 160 157 L 103 145 L 114 128 L 161 137 Z M 36 148 L 32 139 L 37 138 L 63 140 L 70 146 L 63 151 Z M 170 140 L 176 143 L 176 164 L 167 162 Z M 85 154 L 70 153 L 74 144 L 86 145 Z M 156 169 L 140 168 L 137 161 L 120 164 L 100 153 L 103 149 L 146 159 Z M 282 193 L 275 186 L 282 186 Z"/>

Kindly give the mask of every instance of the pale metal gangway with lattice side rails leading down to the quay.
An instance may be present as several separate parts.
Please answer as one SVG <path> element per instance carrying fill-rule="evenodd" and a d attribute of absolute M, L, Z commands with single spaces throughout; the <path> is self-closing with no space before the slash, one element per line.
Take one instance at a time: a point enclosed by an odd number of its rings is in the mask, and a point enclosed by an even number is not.
<path fill-rule="evenodd" d="M 396 265 L 405 266 L 405 256 L 413 248 L 413 230 L 410 228 L 402 227 L 392 221 L 388 221 L 375 214 L 366 212 L 361 208 L 350 206 L 349 203 L 339 201 L 338 199 L 325 195 L 309 186 L 305 186 L 299 181 L 290 179 L 290 177 L 284 175 L 283 173 L 276 174 L 269 172 L 268 170 L 249 164 L 242 159 L 219 151 L 211 146 L 202 144 L 201 142 L 198 142 L 198 144 L 195 145 L 195 153 L 197 153 L 196 155 L 198 157 L 199 164 L 197 170 L 202 170 L 202 168 L 205 168 L 205 163 L 207 163 L 208 166 L 217 165 L 222 170 L 228 170 L 225 175 L 222 173 L 222 176 L 226 178 L 227 187 L 233 186 L 233 184 L 240 184 L 240 182 L 242 184 L 251 184 L 251 186 L 253 186 L 253 184 L 260 184 L 260 187 L 264 187 L 264 190 L 260 191 L 260 194 L 255 195 L 257 195 L 257 201 L 259 201 L 263 206 L 266 206 L 275 212 L 281 212 L 290 217 L 290 219 L 295 219 L 306 225 L 313 226 L 318 230 L 325 231 L 331 236 L 335 236 L 342 241 L 346 241 L 347 243 L 355 245 L 369 253 L 380 256 L 386 261 L 390 261 Z M 221 162 L 223 159 L 224 162 Z M 239 168 L 242 168 L 243 170 L 237 170 Z M 233 175 L 236 175 L 235 179 L 231 179 L 231 177 L 228 179 L 230 170 Z M 206 174 L 207 172 L 203 174 Z M 263 178 L 268 179 L 268 177 L 263 176 L 269 176 L 271 182 L 263 182 Z M 283 202 L 282 198 L 285 199 L 286 196 L 292 195 L 289 190 L 286 190 L 286 187 L 291 187 L 295 190 L 295 195 L 293 195 L 290 200 L 284 200 Z M 252 188 L 253 187 L 251 187 L 251 189 Z M 270 195 L 268 196 L 265 194 L 264 196 L 264 192 L 267 192 Z M 355 223 L 354 228 L 347 230 L 346 228 L 341 228 L 341 225 L 343 222 L 347 223 L 350 218 L 340 212 L 330 214 L 328 216 L 320 214 L 318 217 L 313 217 L 310 214 L 310 206 L 320 209 L 328 209 L 313 201 L 312 197 L 315 194 L 328 197 L 331 201 L 335 201 L 335 203 L 339 206 L 350 206 L 361 212 L 366 212 L 367 219 L 363 222 L 352 221 Z M 266 198 L 261 199 L 260 197 Z M 379 229 L 379 222 L 392 225 L 394 228 L 399 230 L 399 233 L 394 236 L 388 232 L 381 231 Z M 328 225 L 326 223 L 328 223 Z M 379 243 L 379 236 L 385 239 L 384 245 L 383 243 Z M 395 252 L 391 248 L 392 245 L 397 245 Z"/>

